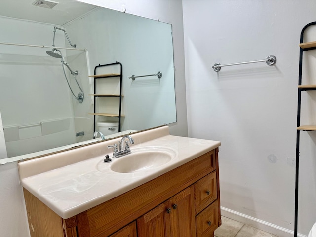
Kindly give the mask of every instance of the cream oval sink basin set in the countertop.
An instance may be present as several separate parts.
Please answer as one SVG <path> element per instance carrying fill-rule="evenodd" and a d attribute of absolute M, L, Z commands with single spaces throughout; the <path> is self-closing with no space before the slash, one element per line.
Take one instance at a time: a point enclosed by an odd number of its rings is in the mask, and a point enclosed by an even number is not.
<path fill-rule="evenodd" d="M 134 173 L 157 168 L 176 156 L 176 152 L 167 147 L 131 148 L 131 151 L 131 154 L 117 158 L 110 169 L 119 173 Z"/>

